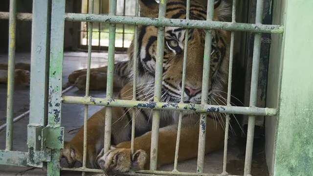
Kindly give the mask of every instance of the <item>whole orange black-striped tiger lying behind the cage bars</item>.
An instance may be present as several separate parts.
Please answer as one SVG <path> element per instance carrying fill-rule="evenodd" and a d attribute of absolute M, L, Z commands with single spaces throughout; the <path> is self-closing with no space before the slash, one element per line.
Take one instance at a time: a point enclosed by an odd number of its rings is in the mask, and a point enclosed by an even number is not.
<path fill-rule="evenodd" d="M 158 3 L 155 0 L 139 0 L 140 16 L 156 18 Z M 227 0 L 216 0 L 214 7 L 214 21 L 227 21 L 231 15 L 230 4 Z M 166 18 L 185 19 L 186 1 L 167 0 Z M 190 19 L 206 20 L 206 7 L 196 0 L 190 1 Z M 136 98 L 138 101 L 154 101 L 156 42 L 157 27 L 138 26 L 138 56 Z M 163 74 L 161 86 L 162 102 L 180 102 L 181 92 L 184 93 L 183 102 L 201 104 L 201 83 L 204 56 L 205 30 L 189 29 L 188 39 L 185 39 L 186 29 L 180 27 L 165 27 Z M 227 88 L 229 32 L 211 30 L 212 43 L 210 53 L 210 73 L 208 103 L 221 104 L 220 91 Z M 184 41 L 188 40 L 185 86 L 182 88 L 182 70 Z M 128 50 L 129 60 L 117 63 L 114 68 L 115 77 L 121 90 L 116 99 L 133 99 L 133 54 L 134 40 Z M 97 68 L 92 79 L 106 78 Z M 100 74 L 101 73 L 101 74 Z M 71 79 L 84 82 L 86 70 L 79 70 L 71 75 Z M 120 74 L 120 75 L 118 75 Z M 82 78 L 79 80 L 80 78 Z M 78 79 L 79 78 L 79 79 Z M 97 79 L 96 79 L 97 78 Z M 115 79 L 115 78 L 114 78 Z M 105 80 L 102 80 L 105 81 Z M 114 82 L 115 83 L 115 82 Z M 102 84 L 102 83 L 101 83 Z M 96 88 L 104 88 L 102 84 Z M 114 85 L 115 86 L 115 85 Z M 225 96 L 225 95 L 224 95 Z M 101 168 L 105 172 L 128 172 L 130 170 L 148 169 L 150 163 L 150 145 L 152 117 L 150 109 L 136 109 L 134 154 L 131 152 L 132 109 L 112 107 L 112 147 L 104 151 L 104 127 L 106 108 L 93 114 L 87 124 L 87 167 Z M 214 113 L 209 113 L 206 124 L 205 154 L 217 151 L 224 146 L 224 125 L 219 123 Z M 157 167 L 174 162 L 176 138 L 178 132 L 179 112 L 160 110 L 160 128 L 158 138 Z M 219 125 L 218 125 L 219 124 Z M 72 167 L 83 161 L 83 126 L 77 134 L 65 142 L 61 154 Z M 179 161 L 197 157 L 199 141 L 199 113 L 183 111 Z"/>

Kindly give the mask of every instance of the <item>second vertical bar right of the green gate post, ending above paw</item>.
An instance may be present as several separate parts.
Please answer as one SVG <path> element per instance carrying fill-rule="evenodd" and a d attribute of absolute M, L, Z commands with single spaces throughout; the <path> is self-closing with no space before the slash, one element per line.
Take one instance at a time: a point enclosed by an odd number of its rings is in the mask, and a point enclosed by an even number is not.
<path fill-rule="evenodd" d="M 116 0 L 110 0 L 109 15 L 116 15 Z M 109 63 L 107 78 L 107 98 L 112 98 L 113 95 L 115 29 L 116 29 L 115 24 L 109 25 Z M 111 130 L 112 130 L 112 107 L 107 107 L 105 117 L 104 152 L 107 152 L 111 146 Z"/>

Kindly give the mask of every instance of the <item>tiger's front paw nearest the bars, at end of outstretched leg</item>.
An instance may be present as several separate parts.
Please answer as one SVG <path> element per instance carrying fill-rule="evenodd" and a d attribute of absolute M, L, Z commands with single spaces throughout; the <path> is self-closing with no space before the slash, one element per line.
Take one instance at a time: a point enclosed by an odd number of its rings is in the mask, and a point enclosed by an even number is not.
<path fill-rule="evenodd" d="M 142 170 L 148 155 L 143 150 L 137 150 L 133 155 L 131 149 L 117 148 L 104 154 L 103 150 L 97 156 L 96 162 L 105 172 L 128 172 Z"/>

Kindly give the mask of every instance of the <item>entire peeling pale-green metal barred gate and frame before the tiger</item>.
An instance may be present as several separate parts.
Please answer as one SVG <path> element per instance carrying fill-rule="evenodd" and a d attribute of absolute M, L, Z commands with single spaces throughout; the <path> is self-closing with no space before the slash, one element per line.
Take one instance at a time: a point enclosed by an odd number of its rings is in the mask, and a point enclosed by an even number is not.
<path fill-rule="evenodd" d="M 233 113 L 233 114 L 248 114 L 248 137 L 246 146 L 246 159 L 245 159 L 245 176 L 250 175 L 251 171 L 251 159 L 252 159 L 252 144 L 254 133 L 254 119 L 256 115 L 272 116 L 276 114 L 276 109 L 271 108 L 258 108 L 255 107 L 255 96 L 257 91 L 258 80 L 258 60 L 260 56 L 260 41 L 261 33 L 282 34 L 283 26 L 281 25 L 263 25 L 261 24 L 261 17 L 263 12 L 263 0 L 257 0 L 257 16 L 256 24 L 246 24 L 235 22 L 235 3 L 233 0 L 233 12 L 232 22 L 214 22 L 213 18 L 213 6 L 214 0 L 208 0 L 208 7 L 206 21 L 189 20 L 190 0 L 187 0 L 187 14 L 186 20 L 166 19 L 166 0 L 160 0 L 158 18 L 144 18 L 138 17 L 138 0 L 136 0 L 135 17 L 121 17 L 116 16 L 116 0 L 110 0 L 110 13 L 109 15 L 95 15 L 93 13 L 93 0 L 89 0 L 89 12 L 90 14 L 72 14 L 65 13 L 65 0 L 52 0 L 51 6 L 51 22 L 49 20 L 49 4 L 48 1 L 34 0 L 33 13 L 16 13 L 16 0 L 10 1 L 10 12 L 0 12 L 0 19 L 10 20 L 10 38 L 9 38 L 9 70 L 8 70 L 8 109 L 7 109 L 7 137 L 6 137 L 6 150 L 0 150 L 0 154 L 4 157 L 0 158 L 0 164 L 10 164 L 17 166 L 36 166 L 42 167 L 43 162 L 47 162 L 47 175 L 57 176 L 60 175 L 60 170 L 69 171 L 82 171 L 82 175 L 85 172 L 98 172 L 102 170 L 86 168 L 86 156 L 87 156 L 87 118 L 88 118 L 88 106 L 89 105 L 101 105 L 106 107 L 105 117 L 105 151 L 109 150 L 111 145 L 111 125 L 112 125 L 112 107 L 126 107 L 143 109 L 142 104 L 151 104 L 154 110 L 153 113 L 153 127 L 152 127 L 152 140 L 151 140 L 151 162 L 150 171 L 137 171 L 126 173 L 127 175 L 143 176 L 147 174 L 152 175 L 188 175 L 188 176 L 218 176 L 217 174 L 203 174 L 203 158 L 205 147 L 205 128 L 200 128 L 199 132 L 199 150 L 198 150 L 198 164 L 197 173 L 182 173 L 177 170 L 178 164 L 178 151 L 179 151 L 179 139 L 181 129 L 182 111 L 197 111 L 201 112 L 201 123 L 206 123 L 206 116 L 208 112 L 216 113 Z M 92 5 L 91 5 L 92 4 Z M 43 8 L 44 7 L 44 8 Z M 45 15 L 43 15 L 45 14 Z M 31 111 L 30 122 L 28 125 L 28 147 L 29 152 L 16 152 L 12 151 L 12 108 L 13 108 L 13 85 L 14 85 L 14 54 L 15 54 L 15 27 L 16 20 L 33 21 L 32 30 L 32 72 L 31 74 Z M 107 80 L 107 97 L 106 98 L 93 98 L 89 96 L 89 79 L 90 79 L 90 62 L 91 62 L 91 40 L 92 32 L 89 32 L 89 47 L 88 47 L 88 67 L 87 67 L 87 82 L 85 97 L 74 96 L 62 96 L 62 70 L 63 70 L 63 43 L 64 43 L 64 23 L 67 21 L 79 21 L 89 22 L 88 30 L 92 31 L 92 22 L 106 22 L 110 23 L 109 31 L 109 64 L 108 64 L 108 80 Z M 45 25 L 42 25 L 44 22 Z M 51 28 L 49 29 L 49 24 Z M 115 24 L 134 24 L 134 88 L 133 88 L 133 100 L 113 100 L 113 69 L 114 69 L 114 49 L 115 49 Z M 138 53 L 138 25 L 155 25 L 158 27 L 157 32 L 157 57 L 156 57 L 156 80 L 155 80 L 155 97 L 154 102 L 136 101 L 136 55 Z M 165 26 L 175 26 L 186 28 L 186 36 L 188 36 L 189 28 L 203 28 L 205 29 L 205 51 L 204 51 L 204 66 L 203 77 L 209 76 L 209 64 L 210 64 L 210 50 L 211 50 L 211 30 L 230 30 L 231 32 L 231 44 L 230 44 L 230 58 L 229 58 L 229 75 L 228 75 L 228 94 L 227 105 L 208 105 L 207 104 L 207 91 L 202 91 L 201 105 L 184 104 L 183 93 L 181 95 L 180 103 L 175 105 L 169 103 L 162 103 L 160 101 L 160 91 L 162 82 L 162 60 L 164 49 L 164 28 Z M 233 61 L 233 49 L 234 49 L 234 32 L 233 31 L 249 31 L 255 33 L 255 44 L 253 54 L 253 69 L 252 69 L 252 81 L 250 91 L 250 107 L 235 107 L 230 105 L 230 93 L 231 93 L 231 73 L 232 73 L 232 61 Z M 38 36 L 36 36 L 36 35 Z M 50 37 L 51 36 L 51 37 Z M 50 37 L 50 38 L 49 38 Z M 188 47 L 185 42 L 185 48 Z M 47 53 L 50 53 L 48 55 Z M 185 72 L 186 72 L 186 55 L 187 49 L 184 50 L 183 60 L 183 75 L 182 86 L 185 84 Z M 45 59 L 41 59 L 45 58 Z M 35 66 L 35 63 L 39 62 L 40 66 Z M 49 63 L 49 87 L 47 87 L 47 74 L 35 74 L 34 70 L 41 73 L 47 72 L 47 63 Z M 43 82 L 44 81 L 44 82 Z M 41 84 L 36 88 L 32 85 Z M 48 92 L 46 92 L 48 88 Z M 208 82 L 202 82 L 202 90 L 208 90 Z M 38 92 L 41 93 L 33 93 Z M 47 103 L 46 97 L 48 96 L 49 102 Z M 38 107 L 38 101 L 42 102 L 40 110 L 36 110 L 34 106 Z M 61 106 L 62 103 L 82 104 L 85 105 L 84 116 L 84 156 L 83 166 L 81 168 L 61 168 L 59 163 L 60 149 L 63 147 L 63 134 L 64 129 L 61 127 Z M 48 105 L 48 106 L 46 106 Z M 168 106 L 164 106 L 168 105 Z M 164 108 L 166 107 L 166 108 Z M 38 109 L 38 108 L 37 108 Z M 47 122 L 45 122 L 45 110 L 48 112 Z M 158 128 L 159 128 L 159 110 L 179 110 L 179 124 L 177 135 L 177 146 L 175 152 L 175 162 L 173 172 L 156 171 L 157 165 L 157 146 L 158 146 Z M 226 173 L 226 161 L 227 161 L 227 138 L 229 128 L 229 115 L 226 116 L 226 132 L 224 140 L 224 159 L 223 159 L 223 176 L 230 176 Z M 134 126 L 135 126 L 135 109 L 133 110 L 133 124 L 132 124 L 132 145 L 131 151 L 134 153 Z M 46 125 L 47 124 L 47 125 Z M 34 154 L 34 156 L 32 154 Z M 37 156 L 37 160 L 29 161 Z M 8 159 L 11 158 L 9 161 Z M 12 160 L 13 158 L 13 160 Z M 40 158 L 38 160 L 38 158 Z M 219 175 L 219 176 L 221 176 Z"/>

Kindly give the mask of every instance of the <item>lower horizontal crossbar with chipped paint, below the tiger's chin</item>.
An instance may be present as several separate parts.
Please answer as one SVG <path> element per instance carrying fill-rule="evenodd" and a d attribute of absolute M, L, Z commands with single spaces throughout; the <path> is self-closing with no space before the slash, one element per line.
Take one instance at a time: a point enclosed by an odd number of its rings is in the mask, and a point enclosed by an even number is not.
<path fill-rule="evenodd" d="M 117 99 L 77 97 L 77 96 L 63 96 L 62 99 L 63 103 L 81 104 L 81 105 L 99 105 L 107 107 L 125 107 L 125 108 L 140 108 L 153 110 L 183 110 L 183 111 L 189 110 L 204 113 L 218 112 L 230 114 L 267 115 L 267 116 L 273 116 L 276 114 L 276 109 L 272 108 L 197 105 L 191 103 L 184 104 L 184 103 L 145 102 L 145 101 L 117 100 Z"/>

